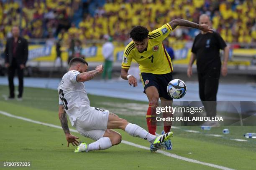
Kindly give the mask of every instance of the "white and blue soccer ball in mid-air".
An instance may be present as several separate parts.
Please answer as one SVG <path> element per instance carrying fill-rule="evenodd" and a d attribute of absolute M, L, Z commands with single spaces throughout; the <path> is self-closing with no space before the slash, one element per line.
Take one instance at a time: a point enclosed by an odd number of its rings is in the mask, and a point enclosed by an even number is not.
<path fill-rule="evenodd" d="M 184 81 L 174 79 L 167 85 L 167 93 L 173 99 L 179 99 L 183 97 L 187 92 L 187 86 Z"/>

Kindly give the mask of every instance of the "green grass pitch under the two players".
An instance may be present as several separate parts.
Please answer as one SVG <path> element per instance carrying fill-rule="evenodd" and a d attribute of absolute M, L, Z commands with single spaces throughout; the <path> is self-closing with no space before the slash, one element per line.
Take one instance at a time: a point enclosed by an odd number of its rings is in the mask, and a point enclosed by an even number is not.
<path fill-rule="evenodd" d="M 32 120 L 60 125 L 58 118 L 57 90 L 25 87 L 23 101 L 5 101 L 3 95 L 8 95 L 8 87 L 0 86 L 0 111 L 12 115 L 26 117 Z M 146 110 L 125 107 L 145 106 L 146 102 L 123 100 L 112 97 L 89 95 L 91 106 L 108 109 L 129 122 L 136 123 L 146 129 L 145 115 L 134 114 Z M 120 105 L 123 107 L 120 107 Z M 133 113 L 133 114 L 130 114 Z M 63 130 L 38 125 L 0 114 L 0 162 L 30 162 L 31 166 L 22 169 L 86 169 L 86 170 L 210 170 L 207 165 L 189 163 L 171 158 L 160 153 L 150 153 L 149 150 L 136 148 L 121 143 L 108 150 L 92 151 L 90 153 L 74 153 L 74 147 L 67 148 Z M 69 128 L 72 128 L 69 124 Z M 207 136 L 206 133 L 222 134 L 224 128 L 229 128 L 230 134 L 224 137 Z M 158 133 L 162 130 L 158 126 Z M 200 133 L 189 133 L 184 130 L 197 130 Z M 200 127 L 179 126 L 173 129 L 173 150 L 166 151 L 185 158 L 212 163 L 239 170 L 251 170 L 256 167 L 256 140 L 243 138 L 246 132 L 254 131 L 252 126 L 230 126 L 212 128 L 204 132 Z M 133 138 L 118 130 L 123 140 L 149 147 L 146 140 Z M 93 142 L 78 133 L 72 133 L 86 143 Z M 230 140 L 230 138 L 246 139 L 247 142 Z M 0 169 L 17 169 L 4 168 Z"/>

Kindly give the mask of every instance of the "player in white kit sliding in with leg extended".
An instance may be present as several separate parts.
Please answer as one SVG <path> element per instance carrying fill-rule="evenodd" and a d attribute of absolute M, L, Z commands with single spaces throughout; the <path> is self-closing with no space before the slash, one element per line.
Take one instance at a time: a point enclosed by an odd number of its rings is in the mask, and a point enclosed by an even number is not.
<path fill-rule="evenodd" d="M 69 71 L 62 77 L 58 86 L 59 120 L 66 135 L 67 146 L 69 143 L 73 146 L 77 145 L 74 151 L 76 153 L 108 149 L 113 145 L 118 145 L 122 140 L 120 133 L 112 129 L 122 129 L 129 135 L 148 140 L 156 146 L 156 150 L 161 148 L 161 143 L 169 140 L 172 132 L 160 136 L 152 135 L 108 110 L 91 107 L 83 82 L 102 73 L 103 67 L 99 65 L 95 70 L 88 72 L 87 68 L 88 63 L 84 59 L 73 58 L 69 63 Z M 81 135 L 96 141 L 88 145 L 83 142 L 79 143 L 78 137 L 69 132 L 67 115 L 72 126 Z"/>

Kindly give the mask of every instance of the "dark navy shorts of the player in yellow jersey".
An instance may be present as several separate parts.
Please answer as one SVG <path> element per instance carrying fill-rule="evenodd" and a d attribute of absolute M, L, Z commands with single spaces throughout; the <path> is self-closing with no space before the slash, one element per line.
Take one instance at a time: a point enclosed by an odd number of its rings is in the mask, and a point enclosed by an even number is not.
<path fill-rule="evenodd" d="M 164 97 L 167 100 L 172 100 L 167 93 L 167 85 L 172 80 L 172 72 L 167 74 L 152 74 L 147 72 L 141 72 L 141 82 L 144 86 L 144 93 L 146 88 L 150 86 L 155 86 L 158 90 L 159 97 Z"/>

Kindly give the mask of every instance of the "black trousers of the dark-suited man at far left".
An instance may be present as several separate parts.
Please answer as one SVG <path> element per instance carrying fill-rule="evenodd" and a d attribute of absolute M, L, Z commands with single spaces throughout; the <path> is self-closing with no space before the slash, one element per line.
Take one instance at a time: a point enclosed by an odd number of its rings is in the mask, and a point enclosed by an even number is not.
<path fill-rule="evenodd" d="M 22 94 L 23 94 L 23 69 L 20 69 L 20 65 L 18 65 L 15 60 L 13 60 L 12 64 L 8 68 L 8 81 L 9 81 L 10 97 L 14 97 L 13 78 L 15 75 L 15 70 L 17 70 L 18 79 L 19 79 L 19 95 L 18 95 L 18 97 L 22 97 Z"/>

